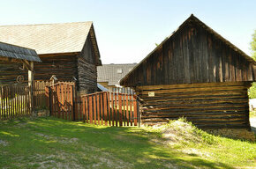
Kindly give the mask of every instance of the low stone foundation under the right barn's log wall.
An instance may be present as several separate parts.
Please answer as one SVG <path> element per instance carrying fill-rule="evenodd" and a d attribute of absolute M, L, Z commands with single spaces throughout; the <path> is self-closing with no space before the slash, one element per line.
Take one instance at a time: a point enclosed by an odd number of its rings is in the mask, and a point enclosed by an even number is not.
<path fill-rule="evenodd" d="M 254 133 L 248 129 L 205 129 L 205 131 L 215 136 L 225 136 L 255 142 Z"/>

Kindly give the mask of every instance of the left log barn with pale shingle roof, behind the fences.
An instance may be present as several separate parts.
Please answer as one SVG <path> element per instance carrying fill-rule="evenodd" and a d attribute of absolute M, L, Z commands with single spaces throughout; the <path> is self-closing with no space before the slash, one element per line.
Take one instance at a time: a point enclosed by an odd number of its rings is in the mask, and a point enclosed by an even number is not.
<path fill-rule="evenodd" d="M 76 81 L 79 92 L 97 90 L 97 68 L 102 65 L 93 22 L 0 26 L 0 41 L 34 48 L 40 63 L 34 64 L 34 79 Z M 0 84 L 16 83 L 24 76 L 22 65 L 0 65 Z M 26 77 L 25 77 L 26 80 Z"/>

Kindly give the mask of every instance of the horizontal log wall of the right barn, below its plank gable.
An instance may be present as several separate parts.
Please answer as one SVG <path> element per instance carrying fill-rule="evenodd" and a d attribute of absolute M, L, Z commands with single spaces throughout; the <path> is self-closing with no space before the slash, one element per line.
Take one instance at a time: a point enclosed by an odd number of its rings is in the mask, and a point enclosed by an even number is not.
<path fill-rule="evenodd" d="M 250 129 L 250 86 L 248 82 L 138 86 L 141 121 L 153 125 L 184 116 L 200 128 Z M 154 97 L 148 92 L 154 92 Z"/>

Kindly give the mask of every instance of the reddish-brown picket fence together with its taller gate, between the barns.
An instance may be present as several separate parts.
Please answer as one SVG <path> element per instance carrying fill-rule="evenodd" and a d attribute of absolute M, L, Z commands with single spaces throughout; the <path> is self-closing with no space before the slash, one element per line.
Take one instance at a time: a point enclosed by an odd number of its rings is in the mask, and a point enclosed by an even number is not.
<path fill-rule="evenodd" d="M 50 114 L 57 118 L 107 126 L 139 125 L 139 101 L 130 92 L 96 92 L 77 97 L 75 84 L 63 82 L 45 89 Z"/>

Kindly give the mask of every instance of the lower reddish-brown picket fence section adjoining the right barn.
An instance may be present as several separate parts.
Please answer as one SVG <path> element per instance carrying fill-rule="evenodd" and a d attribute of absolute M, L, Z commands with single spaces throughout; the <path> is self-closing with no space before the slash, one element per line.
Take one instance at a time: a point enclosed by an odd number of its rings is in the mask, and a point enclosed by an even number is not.
<path fill-rule="evenodd" d="M 137 96 L 128 93 L 96 92 L 83 95 L 80 110 L 80 117 L 87 123 L 137 126 L 140 122 Z"/>

